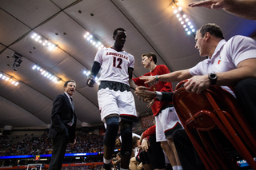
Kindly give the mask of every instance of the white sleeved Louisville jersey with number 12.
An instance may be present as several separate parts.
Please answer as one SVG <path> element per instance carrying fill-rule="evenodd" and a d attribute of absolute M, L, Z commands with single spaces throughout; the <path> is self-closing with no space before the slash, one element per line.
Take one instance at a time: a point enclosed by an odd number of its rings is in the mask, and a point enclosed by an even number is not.
<path fill-rule="evenodd" d="M 100 81 L 116 81 L 129 85 L 128 68 L 134 68 L 134 56 L 113 48 L 99 49 L 94 61 L 101 65 Z"/>

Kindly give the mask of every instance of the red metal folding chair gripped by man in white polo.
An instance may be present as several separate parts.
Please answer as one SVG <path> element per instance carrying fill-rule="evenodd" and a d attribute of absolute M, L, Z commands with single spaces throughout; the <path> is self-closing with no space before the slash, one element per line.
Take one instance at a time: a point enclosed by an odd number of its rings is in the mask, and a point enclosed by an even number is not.
<path fill-rule="evenodd" d="M 218 138 L 221 131 L 250 168 L 256 169 L 253 156 L 256 155 L 256 138 L 238 108 L 237 100 L 220 86 L 212 85 L 202 93 L 188 93 L 181 87 L 181 81 L 175 88 L 174 108 L 202 162 L 210 169 L 238 169 Z M 192 130 L 196 129 L 200 139 Z"/>

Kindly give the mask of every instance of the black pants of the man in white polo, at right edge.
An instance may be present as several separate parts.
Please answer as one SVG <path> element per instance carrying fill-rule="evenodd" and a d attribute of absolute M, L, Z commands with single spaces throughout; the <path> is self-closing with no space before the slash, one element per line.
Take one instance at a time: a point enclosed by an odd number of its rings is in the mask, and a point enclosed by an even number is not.
<path fill-rule="evenodd" d="M 248 123 L 256 130 L 256 78 L 239 81 L 234 93 Z"/>

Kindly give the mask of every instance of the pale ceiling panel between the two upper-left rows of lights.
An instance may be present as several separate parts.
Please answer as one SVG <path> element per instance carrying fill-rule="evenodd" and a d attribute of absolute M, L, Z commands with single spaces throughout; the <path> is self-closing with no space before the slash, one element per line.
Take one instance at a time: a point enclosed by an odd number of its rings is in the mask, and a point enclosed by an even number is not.
<path fill-rule="evenodd" d="M 90 69 L 98 49 L 83 37 L 86 34 L 86 30 L 66 14 L 63 12 L 58 14 L 50 22 L 38 27 L 35 31 L 43 37 L 50 39 L 54 44 L 66 51 L 66 53 L 80 61 L 82 65 L 85 65 L 87 69 Z"/>

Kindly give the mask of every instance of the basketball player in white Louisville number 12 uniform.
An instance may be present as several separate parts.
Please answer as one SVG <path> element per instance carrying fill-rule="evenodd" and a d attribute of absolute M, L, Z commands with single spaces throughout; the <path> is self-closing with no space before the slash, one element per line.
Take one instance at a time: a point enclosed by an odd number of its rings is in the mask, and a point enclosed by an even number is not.
<path fill-rule="evenodd" d="M 132 124 L 138 122 L 134 96 L 130 88 L 138 89 L 132 80 L 134 56 L 122 50 L 126 42 L 123 28 L 114 30 L 114 45 L 99 49 L 94 59 L 87 85 L 94 85 L 94 77 L 101 69 L 101 84 L 98 86 L 98 106 L 105 123 L 103 168 L 110 170 L 111 156 L 118 133 L 118 123 L 122 136 L 121 169 L 128 169 L 132 149 Z"/>

